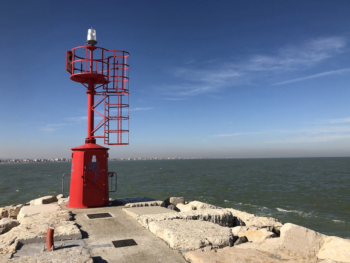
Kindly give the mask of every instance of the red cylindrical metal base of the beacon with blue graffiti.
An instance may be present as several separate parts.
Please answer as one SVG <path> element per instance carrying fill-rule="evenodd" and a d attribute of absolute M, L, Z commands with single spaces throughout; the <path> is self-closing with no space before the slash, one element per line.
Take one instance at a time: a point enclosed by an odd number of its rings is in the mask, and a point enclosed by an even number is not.
<path fill-rule="evenodd" d="M 86 143 L 72 148 L 72 170 L 69 190 L 71 208 L 109 205 L 108 148 Z"/>

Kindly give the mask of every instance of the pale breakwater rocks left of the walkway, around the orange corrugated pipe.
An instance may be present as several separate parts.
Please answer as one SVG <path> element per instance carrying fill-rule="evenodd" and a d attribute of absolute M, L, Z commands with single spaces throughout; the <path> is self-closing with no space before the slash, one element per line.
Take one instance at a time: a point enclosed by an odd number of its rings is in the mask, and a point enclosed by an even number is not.
<path fill-rule="evenodd" d="M 72 221 L 72 213 L 62 210 L 58 204 L 59 199 L 63 197 L 63 195 L 45 196 L 27 204 L 0 208 L 1 263 L 51 262 L 52 259 L 55 259 L 54 262 L 93 262 L 89 251 L 79 246 L 66 247 L 64 253 L 57 249 L 16 257 L 15 253 L 23 245 L 45 242 L 48 228 L 55 230 L 54 241 L 82 238 L 78 226 Z"/>

